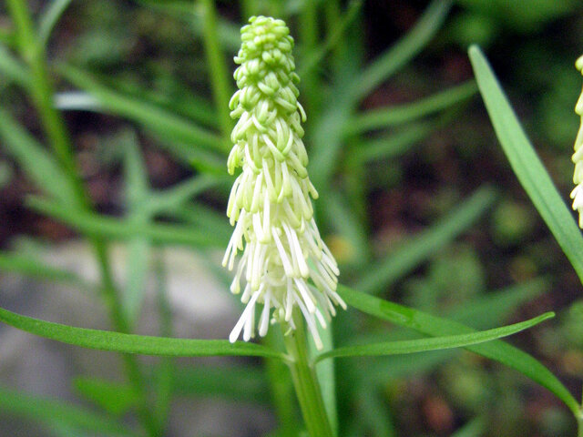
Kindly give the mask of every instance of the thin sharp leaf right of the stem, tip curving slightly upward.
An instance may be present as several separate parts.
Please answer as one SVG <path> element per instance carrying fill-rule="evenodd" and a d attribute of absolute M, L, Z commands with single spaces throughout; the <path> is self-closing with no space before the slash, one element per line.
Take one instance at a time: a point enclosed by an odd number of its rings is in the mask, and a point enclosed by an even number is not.
<path fill-rule="evenodd" d="M 527 330 L 541 321 L 555 317 L 554 312 L 546 312 L 540 316 L 508 325 L 493 330 L 482 330 L 470 334 L 447 335 L 445 337 L 434 337 L 432 339 L 385 341 L 382 343 L 363 344 L 358 346 L 345 346 L 333 351 L 322 353 L 316 357 L 316 361 L 333 357 L 364 357 L 364 356 L 386 356 L 404 355 L 406 353 L 416 353 L 424 351 L 440 351 L 444 349 L 455 349 L 484 343 L 486 341 L 500 339 L 508 335 L 516 334 L 521 330 Z"/>

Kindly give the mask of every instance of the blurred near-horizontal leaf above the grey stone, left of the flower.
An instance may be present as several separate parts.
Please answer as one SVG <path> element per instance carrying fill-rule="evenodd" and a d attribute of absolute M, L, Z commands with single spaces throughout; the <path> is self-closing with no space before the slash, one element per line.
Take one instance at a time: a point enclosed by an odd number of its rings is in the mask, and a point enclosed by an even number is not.
<path fill-rule="evenodd" d="M 66 223 L 84 235 L 106 239 L 145 237 L 160 244 L 183 244 L 194 247 L 225 247 L 227 241 L 220 234 L 209 234 L 200 229 L 162 223 L 136 224 L 127 219 L 115 219 L 91 212 L 76 211 L 40 198 L 31 198 L 31 208 Z"/>

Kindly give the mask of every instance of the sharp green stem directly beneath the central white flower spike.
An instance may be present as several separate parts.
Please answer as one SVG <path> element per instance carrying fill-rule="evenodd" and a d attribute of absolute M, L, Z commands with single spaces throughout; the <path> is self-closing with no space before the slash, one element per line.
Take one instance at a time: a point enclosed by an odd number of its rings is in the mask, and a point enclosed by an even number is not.
<path fill-rule="evenodd" d="M 293 386 L 300 402 L 303 420 L 311 437 L 332 437 L 332 428 L 326 416 L 320 384 L 308 357 L 308 343 L 303 320 L 297 310 L 293 320 L 296 329 L 284 335 L 283 339 L 291 358 L 288 365 L 292 371 Z"/>

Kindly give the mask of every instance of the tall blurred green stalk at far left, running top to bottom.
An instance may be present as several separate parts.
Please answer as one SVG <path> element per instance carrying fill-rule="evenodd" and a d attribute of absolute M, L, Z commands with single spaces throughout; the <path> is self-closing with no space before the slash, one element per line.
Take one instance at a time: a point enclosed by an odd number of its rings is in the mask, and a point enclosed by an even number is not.
<path fill-rule="evenodd" d="M 7 0 L 8 10 L 15 23 L 18 48 L 21 56 L 30 67 L 33 81 L 31 87 L 32 98 L 41 119 L 46 137 L 55 151 L 59 163 L 65 169 L 69 183 L 74 188 L 76 197 L 72 199 L 76 208 L 91 209 L 87 192 L 78 177 L 77 166 L 73 156 L 71 140 L 67 135 L 65 123 L 53 106 L 53 86 L 50 83 L 46 66 L 46 52 L 40 39 L 36 36 L 33 20 L 26 6 L 25 0 Z M 121 302 L 115 287 L 109 263 L 107 260 L 107 248 L 103 241 L 91 239 L 99 268 L 103 296 L 106 300 L 110 318 L 116 330 L 128 333 L 128 321 L 121 312 Z M 141 405 L 138 407 L 138 415 L 148 430 L 148 435 L 157 436 L 158 425 L 149 412 L 148 397 L 144 380 L 139 371 L 138 361 L 133 355 L 124 354 L 124 363 L 128 374 L 128 380 L 134 390 L 141 396 Z"/>

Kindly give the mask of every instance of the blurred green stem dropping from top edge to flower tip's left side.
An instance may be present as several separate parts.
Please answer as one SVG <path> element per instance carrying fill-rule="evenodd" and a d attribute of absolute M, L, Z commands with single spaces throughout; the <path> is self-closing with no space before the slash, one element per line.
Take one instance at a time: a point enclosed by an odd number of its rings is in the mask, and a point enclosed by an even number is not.
<path fill-rule="evenodd" d="M 225 64 L 225 56 L 219 43 L 217 33 L 217 8 L 214 0 L 200 0 L 199 12 L 202 17 L 202 35 L 204 48 L 209 66 L 210 85 L 212 97 L 219 114 L 220 131 L 228 150 L 230 144 L 230 131 L 232 120 L 229 114 L 229 101 L 232 95 L 229 85 L 229 73 Z"/>

